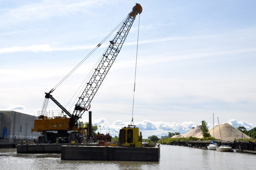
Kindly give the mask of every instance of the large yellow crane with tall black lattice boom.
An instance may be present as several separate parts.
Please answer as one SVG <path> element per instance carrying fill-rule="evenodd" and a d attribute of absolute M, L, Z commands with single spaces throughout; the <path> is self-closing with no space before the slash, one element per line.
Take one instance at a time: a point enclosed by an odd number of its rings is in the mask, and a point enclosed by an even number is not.
<path fill-rule="evenodd" d="M 115 37 L 110 41 L 110 44 L 105 51 L 99 62 L 97 68 L 89 80 L 87 82 L 87 86 L 85 87 L 83 93 L 80 97 L 78 97 L 78 101 L 75 104 L 75 109 L 71 114 L 64 106 L 62 106 L 52 95 L 52 92 L 55 89 L 52 89 L 49 93 L 45 93 L 46 99 L 51 99 L 61 110 L 62 113 L 65 113 L 69 116 L 62 116 L 63 114 L 53 115 L 52 117 L 39 116 L 38 119 L 34 120 L 34 128 L 33 132 L 46 132 L 46 131 L 57 131 L 57 134 L 52 134 L 53 137 L 68 137 L 68 131 L 70 130 L 80 130 L 78 128 L 78 119 L 84 114 L 84 112 L 88 111 L 88 107 L 95 96 L 98 88 L 100 87 L 102 81 L 106 77 L 109 69 L 111 68 L 113 62 L 115 61 L 118 53 L 120 52 L 122 45 L 131 29 L 131 26 L 138 14 L 142 12 L 142 7 L 140 4 L 136 3 L 133 7 L 132 11 L 128 14 L 125 21 L 121 25 L 120 29 L 116 33 Z M 98 44 L 100 46 L 101 44 Z M 91 137 L 91 114 L 89 111 L 89 137 Z"/>

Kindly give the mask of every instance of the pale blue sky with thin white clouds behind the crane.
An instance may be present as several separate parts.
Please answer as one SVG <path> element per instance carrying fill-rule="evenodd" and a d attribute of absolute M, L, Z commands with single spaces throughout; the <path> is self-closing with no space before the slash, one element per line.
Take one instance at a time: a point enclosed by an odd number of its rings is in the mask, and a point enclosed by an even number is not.
<path fill-rule="evenodd" d="M 218 117 L 220 124 L 255 127 L 254 0 L 0 0 L 0 110 L 37 116 L 44 93 L 135 3 L 143 11 L 91 102 L 101 133 L 117 135 L 132 113 L 143 137 L 184 134 L 202 120 L 211 128 L 213 113 L 215 125 Z M 67 110 L 111 38 L 52 93 Z M 49 101 L 47 110 L 59 108 Z"/>

